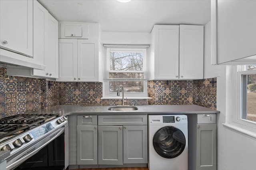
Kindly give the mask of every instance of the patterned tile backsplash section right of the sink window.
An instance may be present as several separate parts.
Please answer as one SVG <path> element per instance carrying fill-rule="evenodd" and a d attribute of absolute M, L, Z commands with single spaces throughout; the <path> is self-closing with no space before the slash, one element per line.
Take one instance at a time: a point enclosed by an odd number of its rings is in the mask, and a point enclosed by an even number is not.
<path fill-rule="evenodd" d="M 216 109 L 217 79 L 148 81 L 149 105 L 200 105 Z"/>

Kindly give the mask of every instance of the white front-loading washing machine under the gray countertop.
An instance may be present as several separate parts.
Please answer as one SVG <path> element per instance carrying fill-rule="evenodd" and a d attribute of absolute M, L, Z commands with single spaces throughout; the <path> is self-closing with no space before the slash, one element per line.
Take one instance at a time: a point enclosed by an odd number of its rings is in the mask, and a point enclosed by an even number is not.
<path fill-rule="evenodd" d="M 148 147 L 150 170 L 188 170 L 187 116 L 149 115 Z"/>

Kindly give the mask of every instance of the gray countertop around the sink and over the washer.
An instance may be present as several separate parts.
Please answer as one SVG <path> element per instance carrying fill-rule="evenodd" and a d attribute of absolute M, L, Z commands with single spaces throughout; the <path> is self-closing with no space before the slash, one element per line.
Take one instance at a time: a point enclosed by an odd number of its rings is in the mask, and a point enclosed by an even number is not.
<path fill-rule="evenodd" d="M 220 113 L 220 111 L 208 109 L 198 105 L 141 105 L 136 106 L 136 111 L 108 111 L 110 106 L 80 106 L 80 105 L 58 105 L 48 110 L 41 110 L 34 113 L 50 114 L 60 113 L 60 115 L 134 115 L 134 114 L 210 114 Z"/>

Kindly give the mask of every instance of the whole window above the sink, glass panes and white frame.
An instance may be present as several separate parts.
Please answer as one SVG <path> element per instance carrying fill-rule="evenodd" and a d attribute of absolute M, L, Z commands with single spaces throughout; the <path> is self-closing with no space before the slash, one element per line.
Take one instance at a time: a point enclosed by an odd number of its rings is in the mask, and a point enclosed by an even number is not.
<path fill-rule="evenodd" d="M 145 45 L 104 45 L 103 97 L 117 97 L 118 87 L 124 87 L 125 97 L 147 97 Z"/>

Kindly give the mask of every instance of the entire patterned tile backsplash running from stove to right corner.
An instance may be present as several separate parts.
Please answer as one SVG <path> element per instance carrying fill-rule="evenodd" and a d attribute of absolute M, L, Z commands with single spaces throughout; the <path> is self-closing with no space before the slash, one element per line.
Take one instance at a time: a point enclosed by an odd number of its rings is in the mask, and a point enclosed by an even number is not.
<path fill-rule="evenodd" d="M 148 81 L 148 97 L 128 99 L 128 105 L 200 105 L 216 109 L 216 78 L 190 81 Z M 56 105 L 121 105 L 120 99 L 100 99 L 102 83 L 56 82 L 6 75 L 0 67 L 0 117 Z"/>

